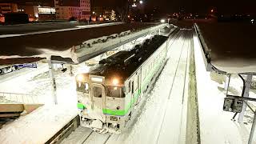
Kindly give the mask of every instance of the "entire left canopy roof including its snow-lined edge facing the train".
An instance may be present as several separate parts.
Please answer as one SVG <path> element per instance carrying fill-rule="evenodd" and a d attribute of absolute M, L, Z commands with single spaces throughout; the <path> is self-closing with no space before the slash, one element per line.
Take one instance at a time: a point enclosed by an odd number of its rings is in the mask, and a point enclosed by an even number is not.
<path fill-rule="evenodd" d="M 164 26 L 166 24 L 122 23 L 0 38 L 2 47 L 8 47 L 1 50 L 0 58 L 25 58 L 26 61 L 29 57 L 55 56 L 53 62 L 77 64 Z"/>

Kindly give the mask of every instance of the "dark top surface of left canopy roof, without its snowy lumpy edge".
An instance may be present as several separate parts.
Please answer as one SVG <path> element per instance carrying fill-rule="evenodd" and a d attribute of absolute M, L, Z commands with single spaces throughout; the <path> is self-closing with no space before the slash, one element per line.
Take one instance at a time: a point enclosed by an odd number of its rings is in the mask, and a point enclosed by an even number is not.
<path fill-rule="evenodd" d="M 120 34 L 127 30 L 142 30 L 155 25 L 152 23 L 125 23 L 114 26 L 92 27 L 90 29 L 64 30 L 0 38 L 0 58 L 47 58 L 50 55 L 71 58 L 71 48 L 79 46 L 89 39 Z"/>

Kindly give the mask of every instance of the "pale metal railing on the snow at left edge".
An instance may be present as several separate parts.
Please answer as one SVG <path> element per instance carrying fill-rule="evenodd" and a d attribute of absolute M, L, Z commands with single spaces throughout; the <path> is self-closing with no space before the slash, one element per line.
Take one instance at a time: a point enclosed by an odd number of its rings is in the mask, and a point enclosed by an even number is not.
<path fill-rule="evenodd" d="M 1 103 L 35 104 L 39 103 L 39 101 L 38 96 L 34 94 L 16 94 L 0 92 L 0 104 Z"/>

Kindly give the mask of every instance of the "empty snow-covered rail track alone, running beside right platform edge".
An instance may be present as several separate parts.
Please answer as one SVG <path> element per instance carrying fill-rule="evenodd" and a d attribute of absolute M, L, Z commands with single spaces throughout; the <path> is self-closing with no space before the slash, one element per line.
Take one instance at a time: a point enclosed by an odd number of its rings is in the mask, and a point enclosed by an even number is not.
<path fill-rule="evenodd" d="M 187 66 L 188 66 L 188 52 L 190 48 L 190 34 L 189 31 L 186 31 L 184 36 L 184 41 L 182 42 L 182 50 L 179 54 L 178 62 L 176 63 L 176 70 L 174 71 L 174 77 L 170 85 L 170 91 L 168 94 L 166 108 L 164 116 L 162 118 L 162 123 L 159 133 L 157 143 L 183 143 L 185 142 L 184 131 L 182 127 L 186 127 L 184 122 L 184 116 L 186 120 L 186 114 L 183 115 L 183 109 L 186 104 L 184 103 L 185 89 L 186 89 L 186 75 L 187 75 Z M 172 59 L 170 59 L 172 60 Z M 185 104 L 185 105 L 183 105 Z M 176 123 L 171 125 L 170 123 Z M 176 133 L 176 134 L 174 134 Z M 171 134 L 171 136 L 169 135 Z"/>

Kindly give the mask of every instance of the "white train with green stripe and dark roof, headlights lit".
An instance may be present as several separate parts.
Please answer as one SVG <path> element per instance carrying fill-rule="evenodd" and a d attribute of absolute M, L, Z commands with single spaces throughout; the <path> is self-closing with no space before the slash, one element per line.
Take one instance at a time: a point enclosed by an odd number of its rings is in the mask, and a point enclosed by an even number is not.
<path fill-rule="evenodd" d="M 154 35 L 130 51 L 102 59 L 77 74 L 81 126 L 98 133 L 121 133 L 143 94 L 165 65 L 168 37 Z"/>

